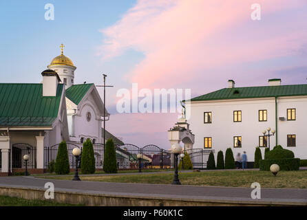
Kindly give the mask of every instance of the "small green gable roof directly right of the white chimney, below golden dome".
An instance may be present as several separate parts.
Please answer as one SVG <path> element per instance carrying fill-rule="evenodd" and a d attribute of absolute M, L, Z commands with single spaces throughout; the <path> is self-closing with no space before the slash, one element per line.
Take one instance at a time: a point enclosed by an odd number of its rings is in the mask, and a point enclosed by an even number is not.
<path fill-rule="evenodd" d="M 69 98 L 74 104 L 79 104 L 87 91 L 90 87 L 94 85 L 93 83 L 90 84 L 79 84 L 79 85 L 72 85 L 68 89 L 66 89 L 65 94 L 66 97 Z"/>

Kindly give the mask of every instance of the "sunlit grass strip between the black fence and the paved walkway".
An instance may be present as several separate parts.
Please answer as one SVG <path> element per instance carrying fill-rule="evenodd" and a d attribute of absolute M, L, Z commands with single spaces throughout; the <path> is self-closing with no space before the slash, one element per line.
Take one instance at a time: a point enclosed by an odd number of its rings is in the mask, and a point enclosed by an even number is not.
<path fill-rule="evenodd" d="M 68 179 L 71 177 L 45 177 L 48 179 Z M 223 170 L 208 172 L 180 173 L 182 185 L 251 187 L 253 182 L 263 188 L 307 188 L 307 170 L 280 171 L 277 177 L 269 171 Z M 147 175 L 83 176 L 83 181 L 107 181 L 137 184 L 171 184 L 173 173 Z"/>

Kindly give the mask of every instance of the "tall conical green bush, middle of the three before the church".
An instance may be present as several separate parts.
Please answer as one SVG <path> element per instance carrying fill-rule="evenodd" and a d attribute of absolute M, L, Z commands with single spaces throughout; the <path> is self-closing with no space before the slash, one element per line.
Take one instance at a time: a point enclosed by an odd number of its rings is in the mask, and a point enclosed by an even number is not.
<path fill-rule="evenodd" d="M 81 155 L 81 173 L 92 174 L 95 173 L 95 156 L 92 141 L 87 138 L 83 143 Z"/>

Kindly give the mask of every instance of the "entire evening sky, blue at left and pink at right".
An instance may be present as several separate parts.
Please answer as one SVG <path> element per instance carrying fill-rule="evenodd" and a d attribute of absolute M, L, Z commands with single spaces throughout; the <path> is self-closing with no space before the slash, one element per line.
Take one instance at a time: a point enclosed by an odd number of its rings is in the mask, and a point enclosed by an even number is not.
<path fill-rule="evenodd" d="M 44 18 L 46 3 L 54 5 L 54 21 Z M 251 21 L 251 3 L 0 1 L 1 83 L 40 83 L 63 43 L 77 67 L 76 84 L 99 85 L 104 73 L 114 85 L 107 89 L 109 131 L 131 144 L 169 148 L 167 130 L 178 114 L 118 114 L 118 89 L 138 83 L 188 88 L 198 96 L 226 87 L 229 79 L 237 87 L 267 85 L 268 78 L 306 83 L 306 0 L 258 0 L 261 21 Z"/>

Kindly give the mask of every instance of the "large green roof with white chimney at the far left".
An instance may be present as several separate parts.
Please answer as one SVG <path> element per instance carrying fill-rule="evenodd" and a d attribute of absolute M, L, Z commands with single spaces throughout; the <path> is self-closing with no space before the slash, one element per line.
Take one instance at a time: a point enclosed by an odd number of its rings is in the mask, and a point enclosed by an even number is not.
<path fill-rule="evenodd" d="M 0 83 L 0 126 L 51 126 L 57 118 L 63 84 L 43 97 L 43 85 Z"/>

